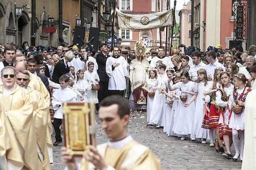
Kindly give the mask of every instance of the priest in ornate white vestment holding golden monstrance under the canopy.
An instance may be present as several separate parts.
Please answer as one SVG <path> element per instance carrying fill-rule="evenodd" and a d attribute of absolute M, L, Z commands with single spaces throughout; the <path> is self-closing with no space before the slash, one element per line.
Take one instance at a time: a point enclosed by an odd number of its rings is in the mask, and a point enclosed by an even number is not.
<path fill-rule="evenodd" d="M 143 91 L 143 80 L 148 78 L 149 62 L 145 57 L 146 49 L 140 38 L 135 46 L 136 58 L 130 64 L 130 81 L 132 94 L 130 96 L 130 108 L 136 110 L 144 110 L 147 108 L 147 92 Z"/>

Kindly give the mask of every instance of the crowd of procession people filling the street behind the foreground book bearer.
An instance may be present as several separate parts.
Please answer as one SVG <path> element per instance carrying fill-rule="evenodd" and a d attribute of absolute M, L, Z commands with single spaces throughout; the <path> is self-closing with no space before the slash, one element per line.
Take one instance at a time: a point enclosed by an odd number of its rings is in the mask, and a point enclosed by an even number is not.
<path fill-rule="evenodd" d="M 93 102 L 99 110 L 99 103 L 110 95 L 128 99 L 130 109 L 146 111 L 148 126 L 163 128 L 168 136 L 203 144 L 210 139 L 209 146 L 224 158 L 251 160 L 243 152 L 252 152 L 246 145 L 251 127 L 245 123 L 252 115 L 245 111 L 246 98 L 256 88 L 254 45 L 243 51 L 241 46 L 222 49 L 218 44 L 201 52 L 180 44 L 166 53 L 161 46 L 146 51 L 140 43 L 136 48 L 145 53 L 118 46 L 111 51 L 107 44 L 101 44 L 100 51 L 34 47 L 28 42 L 21 48 L 0 45 L 0 123 L 6 127 L 0 138 L 8 162 L 3 166 L 50 169 L 52 145 L 63 142 L 63 102 Z M 19 152 L 20 157 L 13 155 Z"/>

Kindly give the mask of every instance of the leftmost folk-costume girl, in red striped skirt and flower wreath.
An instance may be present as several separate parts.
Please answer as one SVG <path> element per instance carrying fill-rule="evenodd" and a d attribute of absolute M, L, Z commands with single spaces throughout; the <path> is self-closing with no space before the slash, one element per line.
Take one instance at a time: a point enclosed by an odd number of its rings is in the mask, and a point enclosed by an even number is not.
<path fill-rule="evenodd" d="M 223 143 L 222 140 L 219 139 L 219 112 L 217 112 L 218 106 L 216 106 L 216 91 L 217 89 L 221 88 L 221 79 L 220 74 L 221 71 L 223 71 L 222 68 L 216 68 L 214 70 L 213 75 L 213 81 L 208 82 L 208 85 L 206 86 L 206 89 L 204 91 L 204 95 L 210 95 L 211 94 L 211 104 L 210 104 L 210 111 L 209 114 L 204 115 L 204 119 L 202 121 L 202 128 L 209 129 L 209 137 L 210 137 L 210 147 L 214 147 L 213 143 L 213 131 L 216 132 L 217 141 L 215 143 L 215 149 L 217 152 L 224 152 Z M 219 147 L 220 146 L 220 147 Z"/>

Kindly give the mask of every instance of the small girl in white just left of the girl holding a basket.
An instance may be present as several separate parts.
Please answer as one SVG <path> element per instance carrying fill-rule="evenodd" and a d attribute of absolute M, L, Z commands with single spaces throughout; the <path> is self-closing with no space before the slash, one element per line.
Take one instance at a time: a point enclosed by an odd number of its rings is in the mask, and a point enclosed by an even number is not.
<path fill-rule="evenodd" d="M 87 99 L 86 90 L 91 90 L 91 84 L 87 80 L 83 79 L 83 74 L 83 69 L 78 69 L 76 73 L 77 80 L 74 83 L 73 88 L 78 90 L 83 95 L 84 99 Z"/>

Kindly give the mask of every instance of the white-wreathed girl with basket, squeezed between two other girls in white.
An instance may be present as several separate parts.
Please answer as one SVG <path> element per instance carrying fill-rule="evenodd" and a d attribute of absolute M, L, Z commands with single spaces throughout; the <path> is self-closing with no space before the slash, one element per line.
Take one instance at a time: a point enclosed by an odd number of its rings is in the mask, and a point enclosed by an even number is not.
<path fill-rule="evenodd" d="M 166 75 L 168 77 L 168 86 L 173 86 L 173 81 L 172 81 L 172 78 L 173 78 L 173 74 L 174 74 L 174 69 L 173 68 L 168 68 L 166 70 Z M 163 91 L 162 91 L 163 93 Z M 165 122 L 164 122 L 164 125 L 163 125 L 163 132 L 167 132 L 167 130 L 169 130 L 169 126 L 171 124 L 171 112 L 172 112 L 172 107 L 169 105 L 170 102 L 173 102 L 173 92 L 170 91 L 168 89 L 168 94 L 169 96 L 166 95 L 166 104 L 167 104 L 167 107 L 165 108 Z"/>

